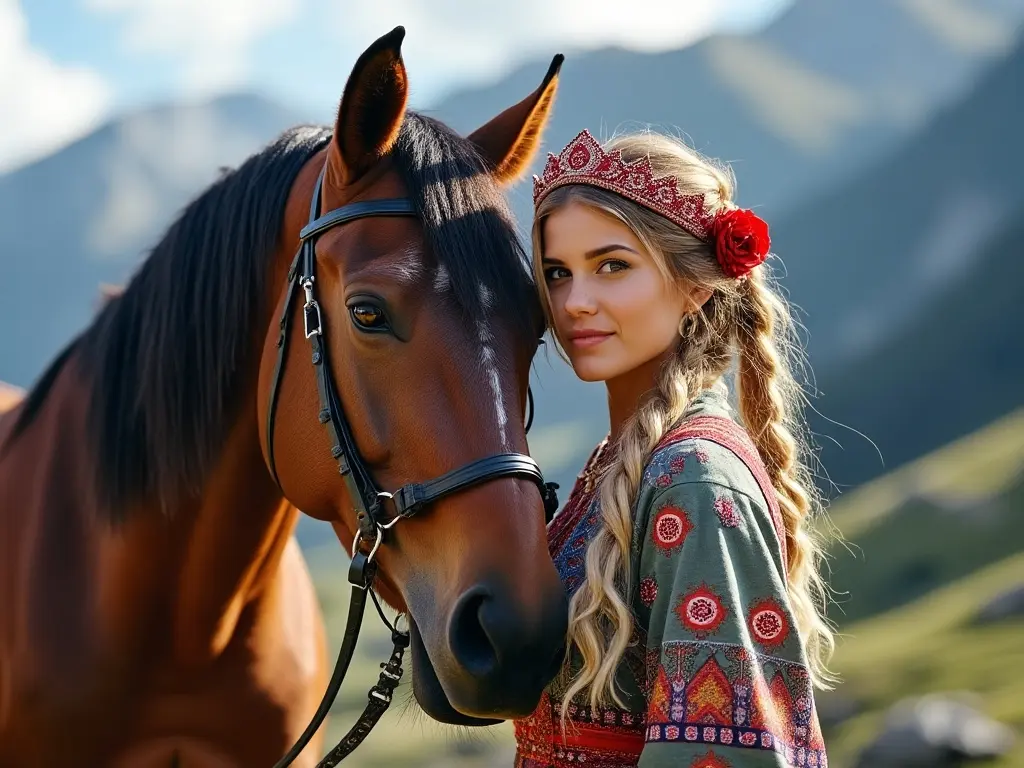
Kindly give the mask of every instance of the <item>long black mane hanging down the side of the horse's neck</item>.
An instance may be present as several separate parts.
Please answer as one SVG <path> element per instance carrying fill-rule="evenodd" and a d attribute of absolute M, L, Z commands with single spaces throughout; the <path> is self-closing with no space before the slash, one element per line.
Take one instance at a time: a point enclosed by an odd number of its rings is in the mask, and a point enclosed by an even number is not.
<path fill-rule="evenodd" d="M 82 366 L 95 490 L 112 522 L 138 502 L 166 511 L 202 489 L 241 406 L 239 377 L 259 353 L 253 328 L 269 311 L 266 276 L 292 184 L 330 138 L 292 128 L 222 171 L 29 393 L 12 437 L 67 361 Z"/>

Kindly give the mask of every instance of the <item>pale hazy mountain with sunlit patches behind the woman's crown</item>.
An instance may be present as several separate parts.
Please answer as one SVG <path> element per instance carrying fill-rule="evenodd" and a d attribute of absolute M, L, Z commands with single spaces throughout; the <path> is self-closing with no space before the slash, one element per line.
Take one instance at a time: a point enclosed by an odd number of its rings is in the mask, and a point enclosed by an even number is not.
<path fill-rule="evenodd" d="M 1024 5 L 1001 0 L 805 0 L 750 35 L 659 53 L 570 52 L 546 142 L 556 148 L 582 128 L 610 133 L 638 121 L 683 131 L 734 162 L 741 202 L 774 216 L 959 98 L 1013 46 L 1022 19 Z M 546 65 L 531 61 L 433 111 L 472 130 L 537 87 Z M 517 198 L 528 220 L 528 190 Z"/>

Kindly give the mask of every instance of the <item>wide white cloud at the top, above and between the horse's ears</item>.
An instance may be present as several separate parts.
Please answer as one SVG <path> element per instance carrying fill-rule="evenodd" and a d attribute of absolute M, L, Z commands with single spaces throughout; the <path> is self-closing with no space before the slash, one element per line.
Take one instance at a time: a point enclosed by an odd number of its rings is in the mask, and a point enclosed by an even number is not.
<path fill-rule="evenodd" d="M 621 45 L 678 48 L 708 35 L 729 3 L 648 0 L 378 0 L 332 3 L 332 24 L 353 52 L 397 25 L 412 86 L 429 100 L 442 88 L 493 80 L 527 56 Z M 354 60 L 354 57 L 353 57 Z"/>

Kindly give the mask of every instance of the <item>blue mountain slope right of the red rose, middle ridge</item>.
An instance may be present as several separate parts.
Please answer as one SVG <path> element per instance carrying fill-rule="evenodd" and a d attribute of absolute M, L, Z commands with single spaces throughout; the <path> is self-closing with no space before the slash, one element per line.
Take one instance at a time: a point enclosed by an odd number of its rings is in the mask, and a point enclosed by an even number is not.
<path fill-rule="evenodd" d="M 772 229 L 816 365 L 866 352 L 951 283 L 1024 205 L 1024 45 L 965 99 L 850 183 Z M 842 286 L 829 289 L 827 284 Z"/>

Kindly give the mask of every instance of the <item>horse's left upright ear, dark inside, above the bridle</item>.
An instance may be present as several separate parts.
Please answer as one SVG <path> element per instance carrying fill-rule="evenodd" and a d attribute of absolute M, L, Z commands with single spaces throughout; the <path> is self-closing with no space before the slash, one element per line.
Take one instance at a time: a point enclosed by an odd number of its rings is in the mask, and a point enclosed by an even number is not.
<path fill-rule="evenodd" d="M 374 41 L 352 68 L 328 148 L 335 181 L 350 184 L 387 155 L 406 115 L 409 87 L 401 60 L 404 27 Z"/>

